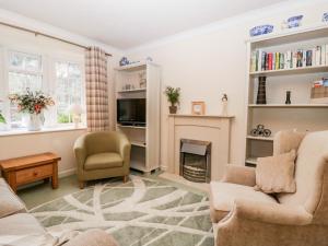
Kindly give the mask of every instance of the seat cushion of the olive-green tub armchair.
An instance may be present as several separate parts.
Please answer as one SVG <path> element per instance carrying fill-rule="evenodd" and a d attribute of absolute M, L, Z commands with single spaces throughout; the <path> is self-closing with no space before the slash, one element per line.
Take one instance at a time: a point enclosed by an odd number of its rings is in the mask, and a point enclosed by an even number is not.
<path fill-rule="evenodd" d="M 84 163 L 84 169 L 105 169 L 122 166 L 122 157 L 118 153 L 99 153 L 89 155 Z"/>

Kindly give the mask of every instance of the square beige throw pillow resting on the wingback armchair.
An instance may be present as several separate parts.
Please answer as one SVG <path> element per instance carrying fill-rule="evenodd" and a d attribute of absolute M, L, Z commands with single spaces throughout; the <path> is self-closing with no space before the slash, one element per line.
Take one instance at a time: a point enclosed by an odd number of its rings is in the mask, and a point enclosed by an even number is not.
<path fill-rule="evenodd" d="M 259 157 L 255 168 L 255 189 L 266 194 L 295 192 L 295 150 L 274 156 Z"/>

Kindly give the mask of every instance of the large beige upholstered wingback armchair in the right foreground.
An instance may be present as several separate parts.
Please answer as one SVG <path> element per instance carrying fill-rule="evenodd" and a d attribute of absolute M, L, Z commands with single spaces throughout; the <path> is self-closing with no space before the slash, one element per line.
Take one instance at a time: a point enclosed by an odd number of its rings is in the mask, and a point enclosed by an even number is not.
<path fill-rule="evenodd" d="M 255 191 L 251 167 L 229 165 L 211 183 L 211 218 L 218 246 L 328 245 L 328 131 L 280 132 L 273 152 L 298 149 L 295 194 Z"/>

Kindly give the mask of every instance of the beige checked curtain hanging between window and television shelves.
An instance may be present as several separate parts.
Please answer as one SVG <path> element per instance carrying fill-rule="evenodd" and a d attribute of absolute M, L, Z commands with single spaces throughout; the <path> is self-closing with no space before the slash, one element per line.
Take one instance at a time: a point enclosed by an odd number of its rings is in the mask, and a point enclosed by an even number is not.
<path fill-rule="evenodd" d="M 85 51 L 87 131 L 109 129 L 107 58 L 98 47 Z"/>

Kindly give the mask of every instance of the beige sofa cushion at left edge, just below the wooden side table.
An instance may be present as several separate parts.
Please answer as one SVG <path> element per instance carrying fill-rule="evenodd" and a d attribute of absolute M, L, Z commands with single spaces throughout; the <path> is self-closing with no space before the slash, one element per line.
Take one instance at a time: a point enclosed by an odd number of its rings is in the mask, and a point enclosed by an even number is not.
<path fill-rule="evenodd" d="M 5 180 L 0 178 L 0 218 L 19 212 L 26 212 L 25 204 L 12 191 Z"/>

